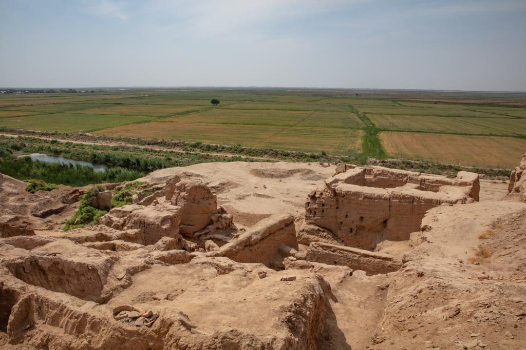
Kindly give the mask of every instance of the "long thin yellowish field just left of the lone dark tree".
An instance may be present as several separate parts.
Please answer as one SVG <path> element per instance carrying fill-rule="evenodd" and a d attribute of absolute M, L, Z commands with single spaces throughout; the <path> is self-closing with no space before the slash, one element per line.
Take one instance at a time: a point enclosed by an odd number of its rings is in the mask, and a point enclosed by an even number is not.
<path fill-rule="evenodd" d="M 115 105 L 111 107 L 93 108 L 78 111 L 86 114 L 118 114 L 118 115 L 148 115 L 148 116 L 167 116 L 179 112 L 197 110 L 195 106 L 189 105 L 159 105 L 159 104 L 140 104 L 140 105 Z"/>

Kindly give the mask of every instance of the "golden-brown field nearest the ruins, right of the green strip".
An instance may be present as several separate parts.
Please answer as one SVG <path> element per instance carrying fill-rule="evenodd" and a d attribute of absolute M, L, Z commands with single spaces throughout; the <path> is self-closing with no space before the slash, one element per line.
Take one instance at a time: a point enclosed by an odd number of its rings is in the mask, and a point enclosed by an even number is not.
<path fill-rule="evenodd" d="M 498 168 L 517 166 L 526 151 L 526 140 L 514 137 L 382 132 L 380 140 L 396 158 Z"/>

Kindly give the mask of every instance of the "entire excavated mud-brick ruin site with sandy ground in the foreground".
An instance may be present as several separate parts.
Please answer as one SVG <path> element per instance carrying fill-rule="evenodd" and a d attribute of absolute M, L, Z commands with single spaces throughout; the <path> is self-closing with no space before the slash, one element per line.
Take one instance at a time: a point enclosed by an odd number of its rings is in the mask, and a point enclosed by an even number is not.
<path fill-rule="evenodd" d="M 526 155 L 509 182 L 232 162 L 26 185 L 0 175 L 2 349 L 526 349 Z M 105 214 L 63 230 L 78 208 Z"/>

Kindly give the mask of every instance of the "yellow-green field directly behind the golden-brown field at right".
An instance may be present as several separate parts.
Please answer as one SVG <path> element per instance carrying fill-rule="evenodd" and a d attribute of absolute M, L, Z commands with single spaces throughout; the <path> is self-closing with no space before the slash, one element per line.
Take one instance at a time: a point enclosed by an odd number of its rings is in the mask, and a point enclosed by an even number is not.
<path fill-rule="evenodd" d="M 485 135 L 524 135 L 526 119 L 446 118 L 441 116 L 374 115 L 369 118 L 382 129 Z M 392 123 L 392 124 L 391 124 Z"/>

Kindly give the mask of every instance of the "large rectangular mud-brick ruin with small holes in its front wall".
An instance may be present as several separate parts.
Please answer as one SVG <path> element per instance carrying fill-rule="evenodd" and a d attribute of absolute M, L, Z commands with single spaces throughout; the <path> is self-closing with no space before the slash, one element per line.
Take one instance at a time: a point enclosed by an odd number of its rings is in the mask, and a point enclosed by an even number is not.
<path fill-rule="evenodd" d="M 338 171 L 344 167 L 339 166 Z M 479 199 L 477 174 L 456 178 L 383 167 L 350 167 L 313 191 L 298 232 L 302 244 L 322 241 L 374 249 L 383 240 L 407 240 L 426 211 Z"/>

